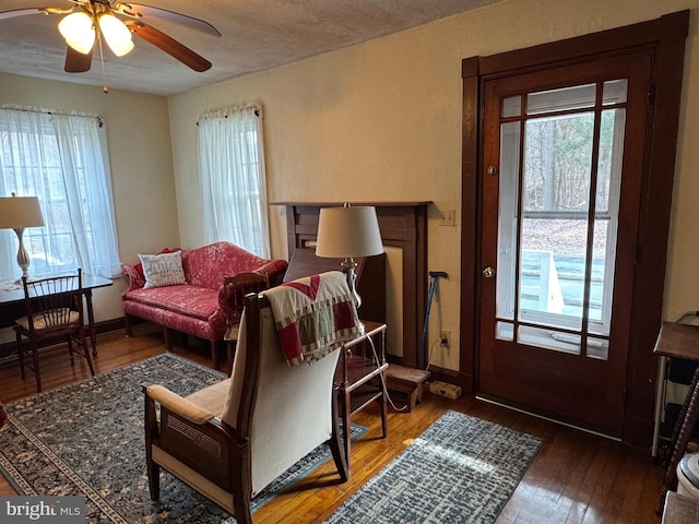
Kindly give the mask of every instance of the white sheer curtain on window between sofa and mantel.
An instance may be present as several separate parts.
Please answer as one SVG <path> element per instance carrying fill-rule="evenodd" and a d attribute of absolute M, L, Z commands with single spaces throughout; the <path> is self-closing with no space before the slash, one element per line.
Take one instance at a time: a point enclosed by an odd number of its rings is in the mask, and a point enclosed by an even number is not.
<path fill-rule="evenodd" d="M 227 240 L 269 259 L 262 106 L 208 112 L 198 127 L 204 241 Z"/>

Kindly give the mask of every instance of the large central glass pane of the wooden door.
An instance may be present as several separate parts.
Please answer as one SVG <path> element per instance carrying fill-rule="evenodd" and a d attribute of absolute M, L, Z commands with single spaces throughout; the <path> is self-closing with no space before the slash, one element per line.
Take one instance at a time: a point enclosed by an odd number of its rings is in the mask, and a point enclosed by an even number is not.
<path fill-rule="evenodd" d="M 520 320 L 582 326 L 593 124 L 591 112 L 526 122 Z"/>

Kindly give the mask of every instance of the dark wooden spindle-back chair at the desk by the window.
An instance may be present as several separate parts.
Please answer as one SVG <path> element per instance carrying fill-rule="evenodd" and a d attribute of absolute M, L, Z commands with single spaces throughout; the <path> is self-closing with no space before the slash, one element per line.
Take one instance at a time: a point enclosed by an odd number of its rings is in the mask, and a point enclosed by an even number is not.
<path fill-rule="evenodd" d="M 24 379 L 25 366 L 34 371 L 38 391 L 42 391 L 39 347 L 66 342 L 71 366 L 74 364 L 74 354 L 79 353 L 87 360 L 90 372 L 95 374 L 85 338 L 82 283 L 80 269 L 75 275 L 32 281 L 22 277 L 26 315 L 15 320 L 14 325 L 20 372 Z M 31 356 L 31 362 L 25 360 L 26 356 Z"/>

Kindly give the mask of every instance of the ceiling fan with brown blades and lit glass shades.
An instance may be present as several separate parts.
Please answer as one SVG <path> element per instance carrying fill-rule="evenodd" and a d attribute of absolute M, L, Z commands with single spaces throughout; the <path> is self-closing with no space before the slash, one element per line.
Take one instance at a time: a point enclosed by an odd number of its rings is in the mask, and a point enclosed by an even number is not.
<path fill-rule="evenodd" d="M 68 0 L 70 8 L 25 8 L 0 11 L 0 21 L 27 14 L 62 15 L 58 29 L 68 44 L 64 70 L 69 73 L 90 71 L 95 41 L 102 52 L 102 40 L 117 57 L 133 49 L 131 35 L 153 44 L 185 66 L 203 72 L 211 62 L 143 20 L 159 19 L 190 29 L 221 36 L 209 22 L 166 9 L 126 3 L 117 0 Z M 106 88 L 106 87 L 105 87 Z"/>

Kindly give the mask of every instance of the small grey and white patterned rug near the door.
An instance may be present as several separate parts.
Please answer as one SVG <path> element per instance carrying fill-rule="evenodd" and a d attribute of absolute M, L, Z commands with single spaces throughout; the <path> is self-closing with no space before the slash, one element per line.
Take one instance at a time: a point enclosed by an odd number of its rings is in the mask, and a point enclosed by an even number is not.
<path fill-rule="evenodd" d="M 493 523 L 542 441 L 447 412 L 327 524 Z"/>

